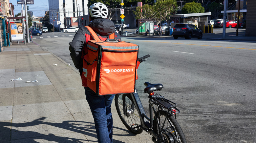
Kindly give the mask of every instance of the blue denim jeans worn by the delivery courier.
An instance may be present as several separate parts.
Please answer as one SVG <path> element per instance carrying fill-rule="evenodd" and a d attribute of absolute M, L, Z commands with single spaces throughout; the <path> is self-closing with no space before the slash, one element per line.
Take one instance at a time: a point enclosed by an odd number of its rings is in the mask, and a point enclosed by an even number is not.
<path fill-rule="evenodd" d="M 84 87 L 86 100 L 93 114 L 96 134 L 99 143 L 112 143 L 113 118 L 111 103 L 115 94 L 97 96 L 89 87 Z"/>

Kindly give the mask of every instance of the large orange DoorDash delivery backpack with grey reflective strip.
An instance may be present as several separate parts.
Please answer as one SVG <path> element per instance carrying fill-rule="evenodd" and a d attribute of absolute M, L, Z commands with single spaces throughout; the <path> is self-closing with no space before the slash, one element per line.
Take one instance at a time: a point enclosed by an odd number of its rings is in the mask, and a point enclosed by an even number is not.
<path fill-rule="evenodd" d="M 134 93 L 139 46 L 114 39 L 115 33 L 102 41 L 91 27 L 85 27 L 94 38 L 83 55 L 87 86 L 97 95 Z"/>

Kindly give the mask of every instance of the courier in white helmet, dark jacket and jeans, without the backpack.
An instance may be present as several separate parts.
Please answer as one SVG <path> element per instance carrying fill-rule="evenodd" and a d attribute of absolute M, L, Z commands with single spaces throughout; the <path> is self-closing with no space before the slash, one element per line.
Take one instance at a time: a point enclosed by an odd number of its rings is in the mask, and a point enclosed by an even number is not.
<path fill-rule="evenodd" d="M 101 40 L 106 40 L 108 36 L 115 32 L 115 24 L 107 19 L 108 8 L 106 5 L 98 2 L 89 8 L 89 19 L 91 27 Z M 121 40 L 118 33 L 115 32 L 115 39 Z M 89 103 L 99 143 L 112 143 L 113 136 L 113 118 L 111 113 L 111 103 L 115 95 L 97 96 L 96 93 L 87 86 L 85 76 L 82 74 L 83 55 L 87 53 L 87 42 L 94 40 L 86 27 L 81 27 L 75 34 L 72 42 L 69 43 L 70 56 L 74 65 L 79 69 L 82 79 L 82 86 L 85 89 L 86 100 Z M 116 77 L 113 77 L 116 78 Z"/>

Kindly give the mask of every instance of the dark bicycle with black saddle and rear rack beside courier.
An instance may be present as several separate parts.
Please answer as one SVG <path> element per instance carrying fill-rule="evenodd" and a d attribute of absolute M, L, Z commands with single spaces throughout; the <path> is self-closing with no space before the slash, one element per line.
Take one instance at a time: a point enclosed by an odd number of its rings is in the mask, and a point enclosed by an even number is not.
<path fill-rule="evenodd" d="M 138 58 L 137 65 L 147 57 L 149 55 Z M 149 94 L 149 117 L 146 116 L 137 89 L 131 94 L 115 95 L 117 113 L 125 127 L 134 134 L 146 131 L 153 135 L 155 143 L 186 143 L 185 135 L 176 120 L 176 114 L 180 113 L 177 104 L 165 99 L 160 93 L 154 93 L 163 88 L 162 84 L 145 82 L 144 85 L 144 93 Z"/>

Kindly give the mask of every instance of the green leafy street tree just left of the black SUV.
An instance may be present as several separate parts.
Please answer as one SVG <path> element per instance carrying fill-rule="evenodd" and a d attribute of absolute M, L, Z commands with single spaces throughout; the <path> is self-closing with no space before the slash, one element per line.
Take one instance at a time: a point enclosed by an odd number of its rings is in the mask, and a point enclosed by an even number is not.
<path fill-rule="evenodd" d="M 172 14 L 175 14 L 177 9 L 178 7 L 176 0 L 158 0 L 155 3 L 156 12 L 160 16 L 161 20 L 165 20 L 167 22 L 167 25 L 170 25 Z"/>

